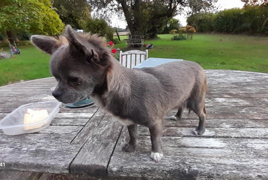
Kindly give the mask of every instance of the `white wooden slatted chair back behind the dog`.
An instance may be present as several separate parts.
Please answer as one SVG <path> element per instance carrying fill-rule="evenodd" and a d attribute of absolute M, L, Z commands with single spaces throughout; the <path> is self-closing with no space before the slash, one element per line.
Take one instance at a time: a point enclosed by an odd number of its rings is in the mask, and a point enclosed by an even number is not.
<path fill-rule="evenodd" d="M 148 50 L 140 51 L 140 50 L 129 50 L 126 52 L 120 51 L 119 53 L 119 62 L 124 67 L 133 69 L 134 66 L 142 63 L 148 59 Z"/>

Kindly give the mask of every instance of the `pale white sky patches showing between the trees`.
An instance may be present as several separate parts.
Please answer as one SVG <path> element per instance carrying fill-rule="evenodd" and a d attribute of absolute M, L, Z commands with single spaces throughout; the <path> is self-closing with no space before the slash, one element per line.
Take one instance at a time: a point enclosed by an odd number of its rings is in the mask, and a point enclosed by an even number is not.
<path fill-rule="evenodd" d="M 241 2 L 240 0 L 218 0 L 217 6 L 219 6 L 219 10 L 224 10 L 224 9 L 231 9 L 235 7 L 242 8 L 244 6 L 244 3 Z M 177 15 L 174 18 L 179 19 L 183 26 L 187 25 L 186 16 Z M 120 28 L 126 28 L 126 25 L 127 25 L 126 21 L 122 18 L 119 18 L 117 15 L 114 15 L 112 17 L 112 22 L 113 23 L 111 24 L 111 26 L 117 26 Z"/>

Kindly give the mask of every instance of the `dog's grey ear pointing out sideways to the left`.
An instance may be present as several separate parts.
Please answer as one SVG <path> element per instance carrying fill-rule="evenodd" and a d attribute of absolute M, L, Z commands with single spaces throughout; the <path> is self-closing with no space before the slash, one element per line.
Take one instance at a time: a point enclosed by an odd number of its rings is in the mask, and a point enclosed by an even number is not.
<path fill-rule="evenodd" d="M 58 41 L 54 37 L 33 35 L 30 40 L 36 47 L 48 54 L 52 54 L 58 48 Z"/>

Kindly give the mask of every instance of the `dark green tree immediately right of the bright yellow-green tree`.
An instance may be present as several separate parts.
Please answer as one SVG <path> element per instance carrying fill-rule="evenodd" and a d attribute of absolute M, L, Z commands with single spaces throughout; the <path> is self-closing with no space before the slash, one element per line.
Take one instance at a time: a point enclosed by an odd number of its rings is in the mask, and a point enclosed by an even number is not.
<path fill-rule="evenodd" d="M 60 19 L 74 29 L 82 29 L 87 17 L 90 17 L 90 7 L 87 0 L 54 0 Z"/>

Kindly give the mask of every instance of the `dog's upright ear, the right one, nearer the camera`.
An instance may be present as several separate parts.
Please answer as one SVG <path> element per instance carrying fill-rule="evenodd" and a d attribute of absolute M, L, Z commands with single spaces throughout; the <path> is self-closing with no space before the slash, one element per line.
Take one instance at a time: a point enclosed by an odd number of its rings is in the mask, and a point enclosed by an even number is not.
<path fill-rule="evenodd" d="M 69 41 L 69 45 L 72 48 L 75 48 L 77 51 L 83 51 L 90 63 L 100 63 L 98 53 L 94 50 L 93 47 L 90 48 L 92 45 L 82 39 L 82 37 L 75 30 L 73 30 L 70 25 L 66 26 L 64 37 L 66 37 L 66 39 Z"/>

